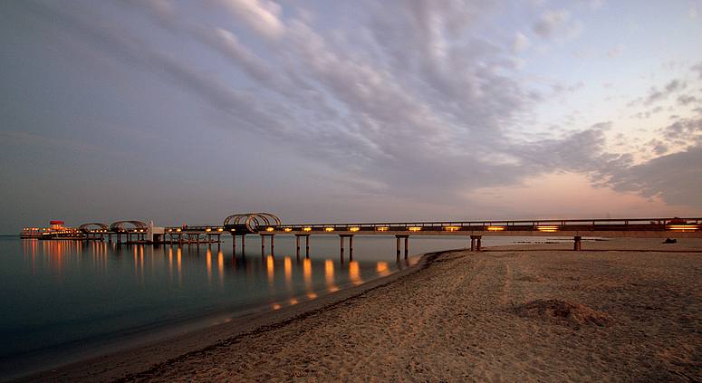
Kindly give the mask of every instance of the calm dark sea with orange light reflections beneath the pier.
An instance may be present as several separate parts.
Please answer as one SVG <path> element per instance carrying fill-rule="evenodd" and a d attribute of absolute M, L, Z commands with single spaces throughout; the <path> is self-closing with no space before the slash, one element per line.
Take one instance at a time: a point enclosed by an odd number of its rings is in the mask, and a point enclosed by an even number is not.
<path fill-rule="evenodd" d="M 0 235 L 0 381 L 279 310 L 411 267 L 430 252 L 470 247 L 470 237 L 257 235 L 236 246 L 117 244 Z M 529 238 L 527 241 L 533 241 Z M 547 241 L 538 238 L 538 241 Z M 557 240 L 557 239 L 555 239 Z M 483 237 L 483 246 L 524 243 Z M 403 242 L 404 252 L 404 242 Z"/>

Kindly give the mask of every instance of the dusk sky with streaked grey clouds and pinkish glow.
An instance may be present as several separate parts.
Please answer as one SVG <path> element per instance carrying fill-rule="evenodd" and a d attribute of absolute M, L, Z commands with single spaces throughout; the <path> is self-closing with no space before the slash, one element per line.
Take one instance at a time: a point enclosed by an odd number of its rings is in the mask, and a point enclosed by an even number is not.
<path fill-rule="evenodd" d="M 0 233 L 702 216 L 702 2 L 0 2 Z"/>

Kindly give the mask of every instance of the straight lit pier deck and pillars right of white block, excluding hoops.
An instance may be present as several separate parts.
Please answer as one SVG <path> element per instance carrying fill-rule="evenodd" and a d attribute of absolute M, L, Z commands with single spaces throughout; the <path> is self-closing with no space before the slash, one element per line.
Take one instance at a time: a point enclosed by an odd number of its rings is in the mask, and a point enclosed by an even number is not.
<path fill-rule="evenodd" d="M 271 224 L 269 222 L 269 224 Z M 582 219 L 582 220 L 529 220 L 529 221 L 450 221 L 450 222 L 394 222 L 365 224 L 301 224 L 301 225 L 223 225 L 197 227 L 166 227 L 165 234 L 193 233 L 202 235 L 241 237 L 245 246 L 245 235 L 261 236 L 261 246 L 265 238 L 270 238 L 274 247 L 274 235 L 295 235 L 298 254 L 301 240 L 305 253 L 309 254 L 310 236 L 339 235 L 341 254 L 348 238 L 350 254 L 353 252 L 354 235 L 394 235 L 397 239 L 398 259 L 401 253 L 409 254 L 409 237 L 412 235 L 462 235 L 471 239 L 471 251 L 480 251 L 482 237 L 502 236 L 560 236 L 572 237 L 573 250 L 582 249 L 582 237 L 639 237 L 639 238 L 702 238 L 702 218 L 654 218 L 654 219 Z M 404 244 L 404 246 L 403 246 Z M 404 249 L 403 249 L 404 247 Z M 403 251 L 404 250 L 404 251 Z"/>

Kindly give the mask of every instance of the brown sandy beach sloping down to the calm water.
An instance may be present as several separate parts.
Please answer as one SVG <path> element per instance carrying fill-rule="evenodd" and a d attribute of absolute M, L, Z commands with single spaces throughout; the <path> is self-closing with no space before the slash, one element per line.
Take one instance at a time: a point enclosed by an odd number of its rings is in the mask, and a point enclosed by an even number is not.
<path fill-rule="evenodd" d="M 33 381 L 702 381 L 702 240 L 514 244 Z"/>

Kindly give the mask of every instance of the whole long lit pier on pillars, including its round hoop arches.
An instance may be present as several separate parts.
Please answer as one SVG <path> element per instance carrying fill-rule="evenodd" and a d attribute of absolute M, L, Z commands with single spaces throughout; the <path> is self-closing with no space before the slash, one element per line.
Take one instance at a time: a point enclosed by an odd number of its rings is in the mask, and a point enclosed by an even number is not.
<path fill-rule="evenodd" d="M 133 227 L 125 227 L 131 225 Z M 93 226 L 93 227 L 91 227 Z M 97 226 L 97 227 L 94 227 Z M 245 246 L 245 235 L 260 235 L 262 251 L 269 238 L 271 249 L 274 235 L 295 235 L 298 255 L 301 240 L 309 256 L 311 235 L 339 235 L 341 254 L 348 238 L 350 254 L 354 235 L 394 235 L 397 239 L 398 259 L 404 244 L 408 256 L 409 237 L 413 235 L 463 235 L 471 239 L 471 251 L 480 251 L 482 237 L 503 236 L 559 236 L 572 237 L 573 250 L 582 249 L 582 237 L 638 237 L 638 238 L 702 238 L 702 218 L 646 218 L 646 219 L 575 219 L 575 220 L 522 220 L 522 221 L 448 221 L 448 222 L 389 222 L 362 224 L 299 224 L 282 225 L 278 217 L 268 213 L 237 214 L 226 217 L 223 225 L 182 225 L 153 227 L 139 221 L 120 221 L 110 226 L 91 223 L 80 227 L 82 239 L 104 240 L 111 235 L 127 238 L 128 243 L 154 244 L 219 244 L 221 235 L 232 235 Z M 76 230 L 76 229 L 72 229 Z M 137 240 L 132 240 L 136 237 Z M 47 239 L 50 239 L 47 236 Z M 78 239 L 78 238 L 75 238 Z M 236 254 L 236 253 L 235 253 Z"/>

